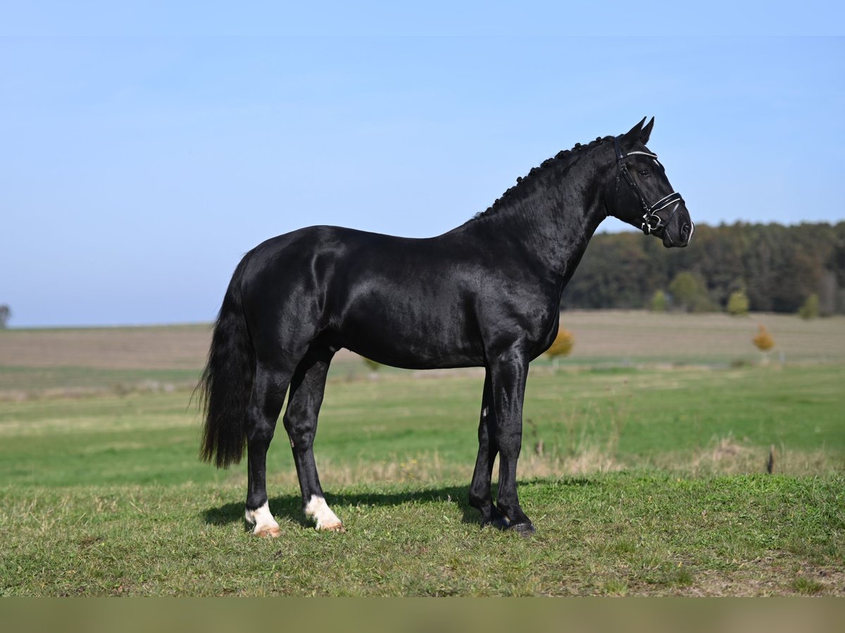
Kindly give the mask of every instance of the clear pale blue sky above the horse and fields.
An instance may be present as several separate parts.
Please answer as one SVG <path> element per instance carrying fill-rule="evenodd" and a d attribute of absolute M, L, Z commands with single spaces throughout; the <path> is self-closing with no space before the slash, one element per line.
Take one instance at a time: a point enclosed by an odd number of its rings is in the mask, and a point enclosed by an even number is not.
<path fill-rule="evenodd" d="M 841 36 L 521 35 L 518 20 L 516 35 L 384 35 L 402 29 L 337 14 L 328 35 L 231 35 L 249 30 L 50 15 L 0 30 L 14 327 L 209 321 L 259 241 L 315 224 L 436 235 L 646 115 L 696 221 L 845 219 Z"/>

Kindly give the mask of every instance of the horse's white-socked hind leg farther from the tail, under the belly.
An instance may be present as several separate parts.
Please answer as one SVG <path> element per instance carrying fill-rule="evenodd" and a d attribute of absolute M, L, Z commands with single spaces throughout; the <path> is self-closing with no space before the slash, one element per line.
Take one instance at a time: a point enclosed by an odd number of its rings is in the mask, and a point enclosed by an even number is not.
<path fill-rule="evenodd" d="M 343 523 L 331 511 L 323 497 L 313 455 L 317 416 L 320 404 L 323 403 L 325 378 L 334 354 L 330 347 L 323 344 L 313 344 L 308 349 L 308 354 L 305 354 L 293 374 L 284 424 L 291 439 L 293 461 L 297 466 L 306 516 L 313 518 L 318 530 L 342 532 Z"/>

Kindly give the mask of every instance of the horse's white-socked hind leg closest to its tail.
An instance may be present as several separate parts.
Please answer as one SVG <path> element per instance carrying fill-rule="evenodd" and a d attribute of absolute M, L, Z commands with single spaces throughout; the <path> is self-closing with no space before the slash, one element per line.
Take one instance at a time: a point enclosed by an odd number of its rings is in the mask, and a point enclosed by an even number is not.
<path fill-rule="evenodd" d="M 259 363 L 247 414 L 248 488 L 246 519 L 258 536 L 279 536 L 279 524 L 267 502 L 267 448 L 291 381 L 292 371 L 270 369 Z"/>

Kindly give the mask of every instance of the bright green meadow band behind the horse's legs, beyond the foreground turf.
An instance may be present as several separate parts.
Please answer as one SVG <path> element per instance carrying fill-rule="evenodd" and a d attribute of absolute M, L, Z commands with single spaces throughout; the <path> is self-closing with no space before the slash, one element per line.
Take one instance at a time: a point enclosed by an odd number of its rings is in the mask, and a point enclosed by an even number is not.
<path fill-rule="evenodd" d="M 580 472 L 585 457 L 601 458 L 605 470 L 754 473 L 772 445 L 776 472 L 835 472 L 845 465 L 843 382 L 841 366 L 537 371 L 526 394 L 521 473 Z M 481 388 L 480 376 L 466 374 L 330 382 L 315 445 L 324 484 L 468 476 Z M 243 468 L 218 473 L 197 462 L 199 416 L 189 396 L 0 403 L 0 481 L 169 485 L 243 477 Z M 268 468 L 293 477 L 283 437 L 270 448 Z"/>

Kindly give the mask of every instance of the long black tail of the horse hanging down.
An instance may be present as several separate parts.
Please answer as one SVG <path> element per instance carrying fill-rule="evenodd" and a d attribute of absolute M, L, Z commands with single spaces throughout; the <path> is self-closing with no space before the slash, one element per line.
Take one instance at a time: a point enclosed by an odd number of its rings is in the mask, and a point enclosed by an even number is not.
<path fill-rule="evenodd" d="M 217 468 L 240 462 L 247 441 L 247 408 L 255 379 L 255 352 L 241 302 L 248 260 L 247 254 L 232 274 L 197 387 L 205 420 L 199 457 Z"/>

